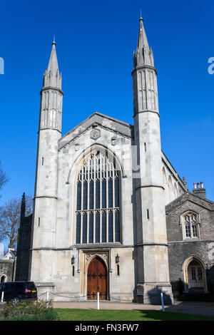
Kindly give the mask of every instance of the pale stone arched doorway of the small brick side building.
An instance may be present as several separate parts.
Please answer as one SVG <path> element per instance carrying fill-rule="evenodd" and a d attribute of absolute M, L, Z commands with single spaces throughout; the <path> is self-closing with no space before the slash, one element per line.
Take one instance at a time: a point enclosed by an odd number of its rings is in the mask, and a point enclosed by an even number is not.
<path fill-rule="evenodd" d="M 197 256 L 190 256 L 183 263 L 185 292 L 208 292 L 205 264 Z"/>

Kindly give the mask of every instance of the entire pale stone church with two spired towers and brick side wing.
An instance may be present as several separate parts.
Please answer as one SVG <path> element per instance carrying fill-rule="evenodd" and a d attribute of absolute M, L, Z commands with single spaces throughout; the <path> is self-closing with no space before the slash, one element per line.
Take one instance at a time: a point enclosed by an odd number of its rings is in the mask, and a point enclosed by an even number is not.
<path fill-rule="evenodd" d="M 96 112 L 62 136 L 62 76 L 52 43 L 29 266 L 16 277 L 28 276 L 39 294 L 82 301 L 99 292 L 147 304 L 158 303 L 160 292 L 168 303 L 180 290 L 213 294 L 214 202 L 202 182 L 189 192 L 161 150 L 157 72 L 142 18 L 132 77 L 133 125 Z"/>

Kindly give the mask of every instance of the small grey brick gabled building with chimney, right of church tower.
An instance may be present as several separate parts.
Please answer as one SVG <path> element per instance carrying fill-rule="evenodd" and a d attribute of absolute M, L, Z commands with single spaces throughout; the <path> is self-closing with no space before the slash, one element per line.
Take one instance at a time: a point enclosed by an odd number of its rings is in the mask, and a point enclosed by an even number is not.
<path fill-rule="evenodd" d="M 170 282 L 173 293 L 214 289 L 214 202 L 205 198 L 203 183 L 194 184 L 165 207 Z"/>

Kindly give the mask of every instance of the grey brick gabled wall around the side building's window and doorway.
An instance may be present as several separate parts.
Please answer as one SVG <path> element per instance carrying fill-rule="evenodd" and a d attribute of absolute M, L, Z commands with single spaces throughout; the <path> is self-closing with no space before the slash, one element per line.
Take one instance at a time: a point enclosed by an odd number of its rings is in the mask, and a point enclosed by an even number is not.
<path fill-rule="evenodd" d="M 183 239 L 180 215 L 186 211 L 198 213 L 200 217 L 198 238 Z M 214 288 L 214 203 L 186 192 L 166 206 L 168 236 L 168 258 L 170 282 L 173 292 L 178 291 L 178 281 L 183 280 L 183 263 L 191 256 L 198 257 L 205 266 L 208 290 Z"/>

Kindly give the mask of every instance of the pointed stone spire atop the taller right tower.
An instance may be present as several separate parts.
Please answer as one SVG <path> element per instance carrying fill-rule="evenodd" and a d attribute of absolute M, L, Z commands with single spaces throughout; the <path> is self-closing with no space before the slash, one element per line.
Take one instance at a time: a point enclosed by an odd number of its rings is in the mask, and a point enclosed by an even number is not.
<path fill-rule="evenodd" d="M 146 31 L 143 26 L 143 18 L 141 17 L 139 21 L 138 44 L 136 53 L 133 53 L 134 68 L 144 65 L 154 66 L 153 51 L 148 46 Z"/>

